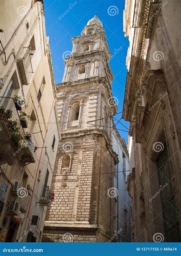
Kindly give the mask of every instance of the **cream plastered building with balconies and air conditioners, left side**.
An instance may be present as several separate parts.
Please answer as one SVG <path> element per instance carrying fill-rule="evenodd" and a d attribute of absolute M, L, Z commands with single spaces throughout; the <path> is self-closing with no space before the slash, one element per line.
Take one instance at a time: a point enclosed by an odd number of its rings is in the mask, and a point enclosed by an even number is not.
<path fill-rule="evenodd" d="M 1 1 L 0 241 L 41 241 L 60 129 L 42 1 Z M 47 107 L 48 102 L 48 107 Z"/>

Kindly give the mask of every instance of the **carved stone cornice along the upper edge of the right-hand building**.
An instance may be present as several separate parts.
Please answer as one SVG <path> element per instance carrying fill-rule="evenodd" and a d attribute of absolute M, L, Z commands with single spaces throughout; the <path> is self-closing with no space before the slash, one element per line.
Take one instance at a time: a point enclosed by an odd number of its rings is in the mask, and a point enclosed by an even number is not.
<path fill-rule="evenodd" d="M 129 73 L 127 74 L 126 78 L 126 89 L 123 105 L 123 118 L 126 121 L 131 121 L 131 116 L 133 115 L 133 102 L 135 100 L 134 95 L 137 89 L 140 89 L 142 86 L 142 72 L 145 72 L 143 69 L 148 68 L 147 66 L 144 66 L 144 59 L 147 59 L 149 50 L 147 22 L 149 20 L 150 13 L 153 11 L 151 11 L 150 8 L 153 9 L 153 5 L 150 5 L 150 0 L 137 0 L 135 3 L 133 17 L 133 27 L 135 28 L 133 47 Z M 154 22 L 156 22 L 156 20 Z"/>

